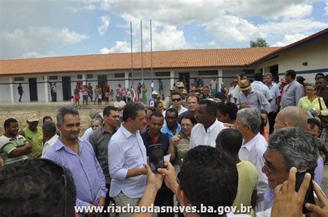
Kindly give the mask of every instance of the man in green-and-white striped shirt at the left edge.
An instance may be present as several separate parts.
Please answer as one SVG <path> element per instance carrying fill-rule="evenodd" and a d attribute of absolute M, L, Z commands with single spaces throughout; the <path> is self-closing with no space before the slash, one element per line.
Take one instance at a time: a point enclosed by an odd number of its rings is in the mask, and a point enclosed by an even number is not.
<path fill-rule="evenodd" d="M 0 136 L 0 155 L 3 158 L 3 164 L 28 159 L 27 155 L 32 151 L 32 146 L 26 142 L 24 136 L 18 135 L 17 120 L 9 118 L 3 127 L 5 133 Z"/>

